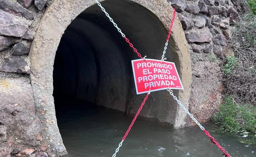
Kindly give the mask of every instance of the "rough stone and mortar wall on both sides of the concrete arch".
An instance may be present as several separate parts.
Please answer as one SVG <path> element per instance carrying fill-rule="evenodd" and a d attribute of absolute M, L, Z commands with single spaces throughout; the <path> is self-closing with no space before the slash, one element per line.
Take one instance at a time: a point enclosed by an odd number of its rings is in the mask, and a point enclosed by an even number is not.
<path fill-rule="evenodd" d="M 53 0 L 0 0 L 0 156 L 48 157 L 30 84 L 30 45 Z M 178 12 L 192 60 L 190 111 L 201 122 L 222 102 L 222 58 L 239 0 L 168 0 Z M 219 59 L 215 58 L 218 57 Z M 41 111 L 44 114 L 44 111 Z M 55 122 L 50 122 L 55 123 Z M 187 119 L 187 124 L 191 119 Z M 44 152 L 46 151 L 46 153 Z"/>

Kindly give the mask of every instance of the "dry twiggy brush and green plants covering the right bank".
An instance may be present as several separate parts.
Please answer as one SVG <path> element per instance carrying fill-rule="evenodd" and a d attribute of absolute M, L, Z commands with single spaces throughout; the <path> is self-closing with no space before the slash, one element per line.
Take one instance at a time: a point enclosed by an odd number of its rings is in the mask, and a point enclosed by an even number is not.
<path fill-rule="evenodd" d="M 223 69 L 228 96 L 214 121 L 221 130 L 256 137 L 256 0 L 247 4 L 231 28 L 228 45 L 234 54 L 226 58 Z"/>

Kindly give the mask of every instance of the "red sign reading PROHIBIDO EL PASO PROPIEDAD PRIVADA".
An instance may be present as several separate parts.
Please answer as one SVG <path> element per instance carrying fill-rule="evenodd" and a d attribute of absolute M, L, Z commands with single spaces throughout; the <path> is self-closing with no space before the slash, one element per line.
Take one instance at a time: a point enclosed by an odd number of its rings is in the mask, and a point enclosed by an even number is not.
<path fill-rule="evenodd" d="M 167 88 L 183 89 L 181 79 L 173 62 L 161 60 L 132 60 L 133 76 L 137 94 L 160 91 Z"/>

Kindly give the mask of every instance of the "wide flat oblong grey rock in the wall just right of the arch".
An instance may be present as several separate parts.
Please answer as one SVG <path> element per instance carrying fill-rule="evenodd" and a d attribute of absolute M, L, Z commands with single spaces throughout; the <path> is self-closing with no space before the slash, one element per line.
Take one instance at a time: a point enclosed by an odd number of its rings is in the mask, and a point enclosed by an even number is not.
<path fill-rule="evenodd" d="M 210 33 L 191 32 L 186 34 L 186 38 L 189 42 L 194 43 L 210 43 L 212 41 Z"/>

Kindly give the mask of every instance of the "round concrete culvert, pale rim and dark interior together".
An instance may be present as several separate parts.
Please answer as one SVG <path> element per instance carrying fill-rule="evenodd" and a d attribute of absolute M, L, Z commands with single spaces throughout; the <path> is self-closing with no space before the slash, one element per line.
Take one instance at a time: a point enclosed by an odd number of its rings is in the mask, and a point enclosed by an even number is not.
<path fill-rule="evenodd" d="M 102 5 L 143 56 L 161 58 L 173 13 L 165 0 L 105 0 Z M 55 0 L 38 30 L 30 52 L 31 82 L 37 111 L 47 111 L 38 113 L 42 122 L 56 121 L 55 108 L 58 112 L 66 105 L 72 110 L 72 103 L 136 113 L 144 98 L 136 95 L 133 81 L 131 60 L 138 57 L 93 0 Z M 166 57 L 176 63 L 185 88 L 176 95 L 188 106 L 191 65 L 186 43 L 176 18 Z M 152 93 L 140 115 L 168 127 L 183 126 L 186 118 L 166 91 Z M 65 154 L 57 124 L 42 125 L 47 128 L 43 138 L 52 137 L 49 150 Z"/>

